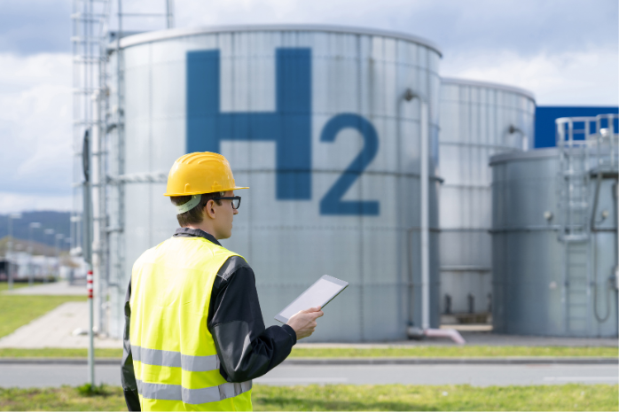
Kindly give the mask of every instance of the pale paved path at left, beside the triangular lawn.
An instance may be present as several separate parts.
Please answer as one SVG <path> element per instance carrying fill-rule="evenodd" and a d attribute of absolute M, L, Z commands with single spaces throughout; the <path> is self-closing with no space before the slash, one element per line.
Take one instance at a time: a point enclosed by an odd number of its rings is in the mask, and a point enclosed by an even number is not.
<path fill-rule="evenodd" d="M 67 302 L 0 338 L 0 348 L 88 347 L 88 335 L 74 335 L 78 330 L 88 330 L 88 302 Z M 122 341 L 95 338 L 95 347 L 121 348 Z"/>

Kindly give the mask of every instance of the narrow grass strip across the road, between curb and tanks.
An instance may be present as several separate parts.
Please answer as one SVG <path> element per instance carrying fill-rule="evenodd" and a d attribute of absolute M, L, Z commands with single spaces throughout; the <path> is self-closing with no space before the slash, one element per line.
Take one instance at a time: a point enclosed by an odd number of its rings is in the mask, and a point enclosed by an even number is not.
<path fill-rule="evenodd" d="M 0 349 L 0 358 L 85 358 L 86 349 Z M 565 346 L 414 346 L 388 348 L 294 348 L 290 358 L 449 358 L 506 356 L 617 357 L 616 347 Z M 95 349 L 98 358 L 121 358 L 122 349 Z"/>

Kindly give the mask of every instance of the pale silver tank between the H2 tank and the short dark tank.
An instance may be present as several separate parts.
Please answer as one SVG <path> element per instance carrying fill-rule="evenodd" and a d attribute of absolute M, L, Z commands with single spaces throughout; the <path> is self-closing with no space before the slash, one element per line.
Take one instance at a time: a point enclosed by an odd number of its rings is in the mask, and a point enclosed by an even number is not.
<path fill-rule="evenodd" d="M 440 105 L 441 313 L 479 323 L 491 312 L 488 161 L 527 149 L 535 99 L 502 84 L 443 78 Z"/>

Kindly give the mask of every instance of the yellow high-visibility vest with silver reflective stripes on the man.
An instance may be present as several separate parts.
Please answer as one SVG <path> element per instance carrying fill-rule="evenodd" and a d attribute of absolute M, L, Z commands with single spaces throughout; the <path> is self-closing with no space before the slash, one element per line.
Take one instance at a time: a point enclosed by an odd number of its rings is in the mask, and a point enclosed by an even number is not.
<path fill-rule="evenodd" d="M 171 237 L 133 266 L 129 341 L 142 410 L 252 410 L 252 382 L 219 372 L 208 306 L 231 253 L 203 237 Z"/>

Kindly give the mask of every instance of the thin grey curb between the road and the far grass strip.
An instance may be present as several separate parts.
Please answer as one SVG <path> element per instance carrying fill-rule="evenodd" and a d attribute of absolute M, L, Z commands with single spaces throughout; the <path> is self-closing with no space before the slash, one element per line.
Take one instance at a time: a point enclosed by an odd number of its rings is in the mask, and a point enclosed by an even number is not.
<path fill-rule="evenodd" d="M 0 358 L 0 365 L 87 365 L 82 358 Z M 95 359 L 97 365 L 121 366 L 118 358 Z M 282 365 L 619 365 L 617 358 L 292 358 Z"/>

